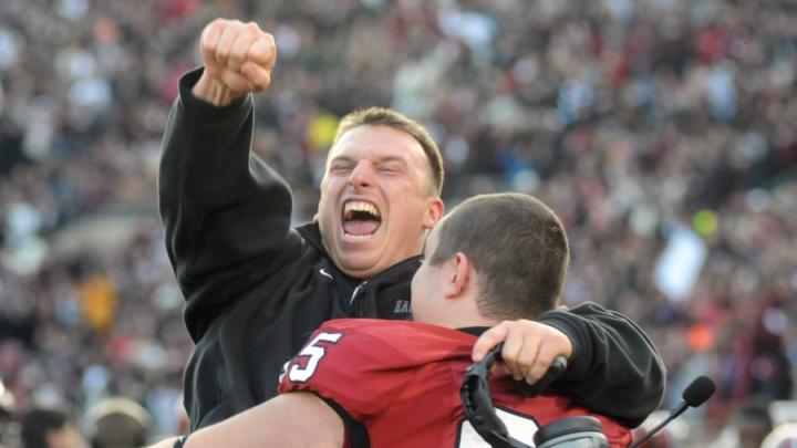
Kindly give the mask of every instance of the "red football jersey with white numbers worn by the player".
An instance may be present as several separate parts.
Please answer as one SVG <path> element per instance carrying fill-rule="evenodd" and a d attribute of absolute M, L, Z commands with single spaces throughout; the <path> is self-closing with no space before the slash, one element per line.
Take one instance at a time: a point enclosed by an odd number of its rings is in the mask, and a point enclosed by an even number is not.
<path fill-rule="evenodd" d="M 475 342 L 417 322 L 329 321 L 286 365 L 279 392 L 310 390 L 335 402 L 365 426 L 372 447 L 488 447 L 459 398 Z M 506 379 L 493 379 L 490 389 L 509 434 L 529 446 L 538 427 L 580 415 L 598 417 L 612 447 L 631 442 L 628 428 L 562 396 L 525 398 Z"/>

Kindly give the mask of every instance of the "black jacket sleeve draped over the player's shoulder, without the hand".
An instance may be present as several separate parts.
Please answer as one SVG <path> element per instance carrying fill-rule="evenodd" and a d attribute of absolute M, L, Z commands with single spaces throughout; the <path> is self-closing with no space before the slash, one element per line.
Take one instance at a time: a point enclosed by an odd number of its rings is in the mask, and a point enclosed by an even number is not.
<path fill-rule="evenodd" d="M 661 404 L 666 371 L 648 335 L 630 319 L 587 302 L 544 313 L 538 322 L 570 337 L 573 353 L 555 384 L 579 404 L 639 426 Z"/>

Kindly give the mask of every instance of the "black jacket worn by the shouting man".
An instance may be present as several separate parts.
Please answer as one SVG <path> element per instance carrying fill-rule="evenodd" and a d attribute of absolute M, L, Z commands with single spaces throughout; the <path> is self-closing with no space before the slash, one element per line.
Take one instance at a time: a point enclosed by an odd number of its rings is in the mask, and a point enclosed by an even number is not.
<path fill-rule="evenodd" d="M 412 258 L 360 282 L 342 273 L 318 226 L 291 227 L 286 181 L 250 154 L 251 96 L 215 107 L 180 80 L 163 143 L 158 200 L 166 247 L 196 344 L 186 369 L 192 429 L 276 395 L 282 364 L 335 317 L 411 319 Z M 594 303 L 538 321 L 565 332 L 573 356 L 557 387 L 635 426 L 661 403 L 664 367 L 630 320 Z"/>

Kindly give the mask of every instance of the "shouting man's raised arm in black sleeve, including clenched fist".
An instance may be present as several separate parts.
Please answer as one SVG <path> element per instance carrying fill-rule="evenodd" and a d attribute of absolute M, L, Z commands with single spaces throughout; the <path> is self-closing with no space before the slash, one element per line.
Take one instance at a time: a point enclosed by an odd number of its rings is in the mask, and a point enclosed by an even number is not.
<path fill-rule="evenodd" d="M 158 176 L 166 247 L 195 341 L 235 291 L 251 289 L 286 264 L 279 256 L 287 248 L 298 253 L 300 246 L 289 235 L 288 185 L 250 155 L 249 92 L 270 81 L 273 39 L 252 23 L 217 20 L 203 31 L 200 46 L 205 69 L 179 82 Z"/>

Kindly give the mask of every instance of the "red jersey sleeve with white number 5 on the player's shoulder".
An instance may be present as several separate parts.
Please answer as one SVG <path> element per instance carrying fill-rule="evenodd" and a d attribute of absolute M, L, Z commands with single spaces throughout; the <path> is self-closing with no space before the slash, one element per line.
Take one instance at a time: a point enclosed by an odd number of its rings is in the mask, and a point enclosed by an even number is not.
<path fill-rule="evenodd" d="M 365 421 L 402 393 L 413 364 L 381 337 L 327 323 L 287 365 L 279 392 L 313 392 Z"/>

